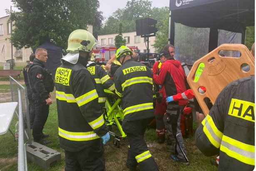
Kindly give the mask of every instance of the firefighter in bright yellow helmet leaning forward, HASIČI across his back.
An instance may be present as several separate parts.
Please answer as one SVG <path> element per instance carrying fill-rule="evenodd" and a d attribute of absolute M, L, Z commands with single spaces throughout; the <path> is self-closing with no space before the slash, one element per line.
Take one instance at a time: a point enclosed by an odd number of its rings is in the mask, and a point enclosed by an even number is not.
<path fill-rule="evenodd" d="M 114 83 L 115 92 L 122 98 L 122 128 L 129 141 L 126 166 L 131 171 L 136 171 L 138 164 L 142 171 L 158 171 L 143 137 L 154 116 L 152 71 L 135 62 L 125 46 L 117 49 L 116 58 L 122 65 L 114 74 Z"/>

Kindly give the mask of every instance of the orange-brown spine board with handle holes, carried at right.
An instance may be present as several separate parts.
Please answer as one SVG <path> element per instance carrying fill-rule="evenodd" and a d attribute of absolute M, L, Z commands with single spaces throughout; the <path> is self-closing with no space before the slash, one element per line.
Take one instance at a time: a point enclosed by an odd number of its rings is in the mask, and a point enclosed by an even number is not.
<path fill-rule="evenodd" d="M 222 57 L 220 51 L 239 51 L 241 56 Z M 244 71 L 243 64 L 248 64 L 250 70 Z M 214 105 L 217 96 L 227 84 L 251 75 L 255 75 L 255 59 L 248 48 L 243 44 L 222 44 L 194 63 L 187 81 L 206 116 L 209 108 L 204 103 L 205 98 L 209 98 Z M 199 92 L 201 86 L 206 88 L 204 94 Z"/>

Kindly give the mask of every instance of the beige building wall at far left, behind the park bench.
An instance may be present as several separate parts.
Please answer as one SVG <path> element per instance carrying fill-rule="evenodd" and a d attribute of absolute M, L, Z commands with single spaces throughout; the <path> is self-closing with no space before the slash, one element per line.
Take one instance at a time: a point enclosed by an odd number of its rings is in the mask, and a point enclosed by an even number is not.
<path fill-rule="evenodd" d="M 20 51 L 16 51 L 15 47 L 12 47 L 11 53 L 11 43 L 9 40 L 5 40 L 9 38 L 11 34 L 8 34 L 7 29 L 7 21 L 9 16 L 5 16 L 0 18 L 0 24 L 2 24 L 3 28 L 3 35 L 0 35 L 0 65 L 2 66 L 3 63 L 6 63 L 6 60 L 10 60 L 11 58 L 14 59 L 14 62 L 17 65 L 25 65 L 29 60 L 29 56 L 32 53 L 31 48 L 22 48 Z M 12 55 L 13 54 L 13 55 Z M 15 57 L 18 56 L 18 57 Z"/>

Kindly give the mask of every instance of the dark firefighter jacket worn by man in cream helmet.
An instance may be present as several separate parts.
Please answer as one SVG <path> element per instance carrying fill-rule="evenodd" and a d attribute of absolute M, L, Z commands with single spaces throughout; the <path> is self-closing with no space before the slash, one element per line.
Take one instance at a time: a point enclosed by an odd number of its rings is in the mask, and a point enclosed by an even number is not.
<path fill-rule="evenodd" d="M 60 147 L 70 152 L 99 144 L 108 132 L 96 83 L 85 66 L 64 61 L 55 75 Z"/>

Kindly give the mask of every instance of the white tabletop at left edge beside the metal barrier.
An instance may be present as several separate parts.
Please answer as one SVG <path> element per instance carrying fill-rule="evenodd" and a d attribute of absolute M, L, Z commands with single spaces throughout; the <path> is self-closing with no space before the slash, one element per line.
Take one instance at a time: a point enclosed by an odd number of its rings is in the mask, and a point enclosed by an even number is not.
<path fill-rule="evenodd" d="M 17 104 L 18 102 L 0 103 L 0 135 L 8 131 Z"/>

